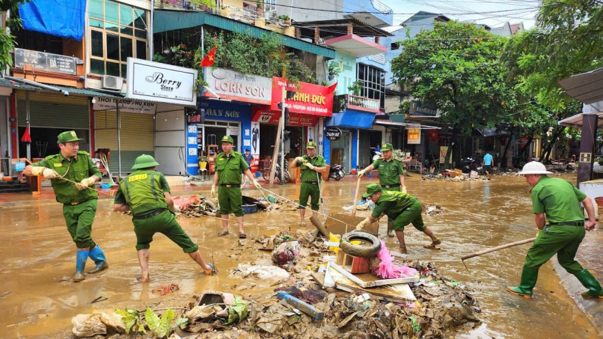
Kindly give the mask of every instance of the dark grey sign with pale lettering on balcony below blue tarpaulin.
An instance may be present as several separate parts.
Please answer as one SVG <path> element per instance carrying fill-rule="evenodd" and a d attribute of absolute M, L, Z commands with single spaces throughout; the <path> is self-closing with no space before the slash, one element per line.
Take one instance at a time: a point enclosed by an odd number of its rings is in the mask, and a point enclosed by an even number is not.
<path fill-rule="evenodd" d="M 14 49 L 14 66 L 23 68 L 23 64 L 32 64 L 35 71 L 48 71 L 63 74 L 77 74 L 75 58 L 66 55 Z"/>

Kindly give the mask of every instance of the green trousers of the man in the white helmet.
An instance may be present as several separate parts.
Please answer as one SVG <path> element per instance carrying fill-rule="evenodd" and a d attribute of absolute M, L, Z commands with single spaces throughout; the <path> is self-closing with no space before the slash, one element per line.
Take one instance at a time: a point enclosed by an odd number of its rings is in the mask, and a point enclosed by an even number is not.
<path fill-rule="evenodd" d="M 552 225 L 538 234 L 532 247 L 528 249 L 524 268 L 538 271 L 555 253 L 565 271 L 576 275 L 584 268 L 574 260 L 580 242 L 584 239 L 584 226 Z"/>

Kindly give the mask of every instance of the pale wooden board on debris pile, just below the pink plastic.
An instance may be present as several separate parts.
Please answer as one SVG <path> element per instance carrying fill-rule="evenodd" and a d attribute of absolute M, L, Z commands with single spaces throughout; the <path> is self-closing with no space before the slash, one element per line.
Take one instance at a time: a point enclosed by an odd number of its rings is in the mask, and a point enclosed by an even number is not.
<path fill-rule="evenodd" d="M 332 275 L 335 281 L 335 288 L 338 288 L 339 290 L 343 290 L 345 292 L 367 292 L 371 294 L 371 298 L 374 297 L 374 299 L 378 300 L 386 298 L 389 301 L 397 303 L 417 300 L 415 294 L 413 294 L 413 291 L 410 290 L 410 286 L 408 286 L 408 284 L 361 288 L 358 285 L 354 284 L 354 282 L 347 279 L 338 271 L 331 269 L 330 274 Z"/>

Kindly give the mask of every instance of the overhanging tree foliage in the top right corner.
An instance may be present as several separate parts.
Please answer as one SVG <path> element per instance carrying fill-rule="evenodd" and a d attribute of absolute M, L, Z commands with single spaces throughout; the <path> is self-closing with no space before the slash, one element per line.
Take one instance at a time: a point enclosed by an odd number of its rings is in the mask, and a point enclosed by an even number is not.
<path fill-rule="evenodd" d="M 603 66 L 603 2 L 545 0 L 537 26 L 513 36 L 503 62 L 518 88 L 552 110 L 571 101 L 558 81 Z"/>

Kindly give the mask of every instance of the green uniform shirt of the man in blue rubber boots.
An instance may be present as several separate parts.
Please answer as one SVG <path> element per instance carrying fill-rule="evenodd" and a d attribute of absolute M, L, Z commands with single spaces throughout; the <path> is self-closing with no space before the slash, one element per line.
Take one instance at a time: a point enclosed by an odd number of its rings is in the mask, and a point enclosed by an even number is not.
<path fill-rule="evenodd" d="M 85 151 L 77 151 L 77 155 L 67 160 L 59 154 L 49 155 L 45 160 L 36 162 L 32 166 L 42 166 L 50 168 L 59 173 L 62 177 L 71 181 L 79 182 L 87 177 L 96 175 L 101 178 L 101 171 L 90 158 L 90 154 Z M 51 179 L 52 189 L 56 195 L 56 200 L 60 203 L 81 203 L 82 201 L 96 199 L 99 193 L 96 190 L 78 190 L 73 182 L 64 179 Z"/>

